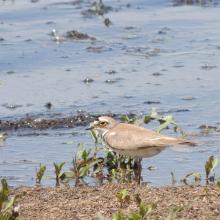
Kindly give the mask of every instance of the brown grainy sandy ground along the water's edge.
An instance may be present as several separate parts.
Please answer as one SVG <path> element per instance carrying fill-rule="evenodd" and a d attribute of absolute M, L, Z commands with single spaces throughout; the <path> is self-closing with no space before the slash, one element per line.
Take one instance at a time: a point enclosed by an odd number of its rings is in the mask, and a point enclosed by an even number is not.
<path fill-rule="evenodd" d="M 126 188 L 130 202 L 121 208 L 116 193 Z M 137 210 L 135 194 L 156 209 L 146 219 L 166 219 L 172 207 L 182 209 L 175 219 L 220 219 L 220 190 L 214 186 L 148 186 L 107 184 L 101 187 L 27 188 L 14 191 L 20 204 L 20 219 L 98 219 L 98 213 L 112 219 L 113 213 Z"/>

